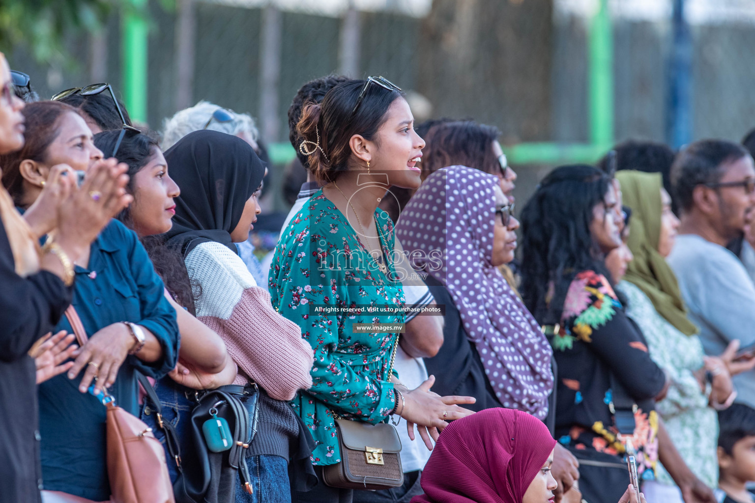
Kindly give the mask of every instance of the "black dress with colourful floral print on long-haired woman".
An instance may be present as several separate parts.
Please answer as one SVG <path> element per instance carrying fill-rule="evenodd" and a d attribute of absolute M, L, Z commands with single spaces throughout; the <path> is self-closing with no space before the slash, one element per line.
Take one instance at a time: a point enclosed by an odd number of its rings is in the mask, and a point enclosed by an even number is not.
<path fill-rule="evenodd" d="M 623 455 L 609 403 L 611 372 L 636 400 L 637 471 L 655 479 L 658 415 L 653 398 L 664 387 L 643 334 L 624 314 L 606 277 L 594 271 L 575 276 L 564 302 L 559 333 L 551 340 L 558 365 L 556 438 L 574 449 Z"/>

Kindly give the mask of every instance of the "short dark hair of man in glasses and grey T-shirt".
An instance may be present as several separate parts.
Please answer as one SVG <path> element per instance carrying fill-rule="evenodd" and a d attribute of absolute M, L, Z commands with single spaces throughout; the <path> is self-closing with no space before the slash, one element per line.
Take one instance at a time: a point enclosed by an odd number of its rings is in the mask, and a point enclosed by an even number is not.
<path fill-rule="evenodd" d="M 682 149 L 671 166 L 671 184 L 680 208 L 692 210 L 695 187 L 720 181 L 720 168 L 745 155 L 750 153 L 743 146 L 726 140 L 699 140 Z"/>

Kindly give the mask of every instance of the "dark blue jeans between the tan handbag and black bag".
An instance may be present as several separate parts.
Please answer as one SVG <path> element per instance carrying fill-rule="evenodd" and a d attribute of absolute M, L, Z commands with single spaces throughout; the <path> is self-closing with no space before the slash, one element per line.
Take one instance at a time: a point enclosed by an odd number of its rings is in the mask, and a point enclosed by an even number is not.
<path fill-rule="evenodd" d="M 165 377 L 160 379 L 153 386 L 157 397 L 162 405 L 162 420 L 171 422 L 176 428 L 178 443 L 183 449 L 183 444 L 188 440 L 189 425 L 191 424 L 191 411 L 195 405 L 193 400 L 186 398 L 186 393 L 193 393 L 193 390 L 178 385 L 171 378 Z M 171 475 L 171 483 L 178 478 L 175 459 L 171 458 L 171 453 L 165 446 L 165 432 L 158 425 L 157 413 L 149 400 L 145 399 L 141 406 L 140 419 L 152 428 L 157 440 L 160 440 L 165 449 L 165 459 L 168 461 L 168 473 Z"/>

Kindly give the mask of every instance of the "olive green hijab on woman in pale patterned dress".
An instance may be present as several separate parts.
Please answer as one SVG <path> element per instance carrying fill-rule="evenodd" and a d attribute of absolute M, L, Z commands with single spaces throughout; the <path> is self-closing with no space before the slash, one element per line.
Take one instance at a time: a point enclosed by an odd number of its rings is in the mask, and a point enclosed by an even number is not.
<path fill-rule="evenodd" d="M 658 253 L 663 210 L 661 173 L 626 170 L 616 173 L 616 179 L 621 182 L 623 203 L 632 209 L 627 244 L 634 260 L 624 279 L 643 290 L 655 311 L 674 327 L 688 336 L 698 333 L 698 327 L 687 317 L 676 276 Z"/>

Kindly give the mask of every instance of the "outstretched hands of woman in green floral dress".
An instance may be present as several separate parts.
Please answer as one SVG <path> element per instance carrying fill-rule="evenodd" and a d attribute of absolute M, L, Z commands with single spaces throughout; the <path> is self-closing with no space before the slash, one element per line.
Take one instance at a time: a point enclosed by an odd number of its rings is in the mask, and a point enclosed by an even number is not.
<path fill-rule="evenodd" d="M 416 425 L 420 437 L 429 450 L 433 450 L 433 442 L 430 438 L 433 441 L 438 440 L 440 432 L 448 425 L 446 421 L 461 419 L 474 414 L 472 410 L 464 409 L 458 404 L 476 402 L 474 397 L 458 397 L 455 395 L 441 397 L 439 394 L 430 391 L 433 384 L 435 384 L 435 376 L 430 376 L 427 381 L 411 391 L 399 388 L 405 401 L 400 416 L 406 419 L 409 438 L 414 440 L 414 425 Z"/>

